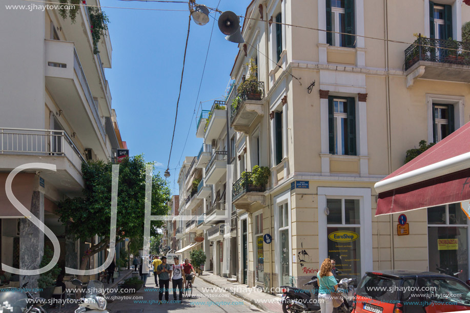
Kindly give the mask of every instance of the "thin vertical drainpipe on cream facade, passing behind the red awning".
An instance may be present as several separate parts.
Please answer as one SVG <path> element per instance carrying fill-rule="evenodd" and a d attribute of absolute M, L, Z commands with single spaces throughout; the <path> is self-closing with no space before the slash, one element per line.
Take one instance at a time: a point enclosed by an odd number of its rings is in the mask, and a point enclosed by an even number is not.
<path fill-rule="evenodd" d="M 387 112 L 387 158 L 389 163 L 389 173 L 392 173 L 392 134 L 390 127 L 390 77 L 389 77 L 389 21 L 388 21 L 388 1 L 383 0 L 384 8 L 384 26 L 385 26 L 385 93 L 386 93 L 386 112 Z M 395 269 L 395 257 L 393 254 L 394 249 L 394 234 L 393 234 L 393 215 L 390 215 L 390 256 L 392 269 Z M 379 251 L 380 254 L 380 251 Z M 380 264 L 380 263 L 379 263 Z"/>

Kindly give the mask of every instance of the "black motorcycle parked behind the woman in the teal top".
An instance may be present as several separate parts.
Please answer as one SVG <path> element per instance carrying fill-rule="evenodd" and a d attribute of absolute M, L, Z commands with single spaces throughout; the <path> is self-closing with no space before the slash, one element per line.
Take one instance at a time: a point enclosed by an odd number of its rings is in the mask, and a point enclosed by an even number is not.
<path fill-rule="evenodd" d="M 353 310 L 354 303 L 354 282 L 355 278 L 343 278 L 338 282 L 337 292 L 341 295 L 343 303 L 334 309 L 334 312 L 349 313 Z M 314 297 L 310 291 L 289 286 L 281 286 L 282 298 L 281 305 L 284 313 L 313 312 L 320 313 L 320 305 L 318 303 L 318 280 L 314 276 L 312 280 L 304 284 L 304 286 L 312 285 Z"/>

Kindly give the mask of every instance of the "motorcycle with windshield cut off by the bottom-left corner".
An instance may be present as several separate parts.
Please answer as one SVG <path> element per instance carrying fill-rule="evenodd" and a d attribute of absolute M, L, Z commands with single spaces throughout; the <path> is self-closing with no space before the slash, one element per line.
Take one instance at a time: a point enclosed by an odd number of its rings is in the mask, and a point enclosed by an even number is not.
<path fill-rule="evenodd" d="M 42 307 L 46 304 L 44 298 L 34 298 L 29 291 L 14 287 L 0 288 L 0 312 L 10 313 L 47 313 Z"/>

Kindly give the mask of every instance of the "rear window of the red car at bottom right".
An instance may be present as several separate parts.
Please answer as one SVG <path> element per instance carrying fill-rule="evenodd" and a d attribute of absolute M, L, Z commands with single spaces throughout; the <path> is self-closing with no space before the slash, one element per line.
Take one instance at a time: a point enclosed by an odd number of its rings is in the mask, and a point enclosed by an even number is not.
<path fill-rule="evenodd" d="M 359 283 L 356 293 L 358 296 L 379 301 L 394 301 L 397 299 L 400 280 L 381 275 L 367 274 Z"/>

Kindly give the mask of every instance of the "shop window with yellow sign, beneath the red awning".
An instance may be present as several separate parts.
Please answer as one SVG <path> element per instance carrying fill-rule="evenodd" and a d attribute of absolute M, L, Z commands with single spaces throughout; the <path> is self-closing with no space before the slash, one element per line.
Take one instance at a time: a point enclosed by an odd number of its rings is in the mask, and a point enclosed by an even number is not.
<path fill-rule="evenodd" d="M 429 268 L 468 277 L 468 219 L 460 203 L 427 208 Z"/>

